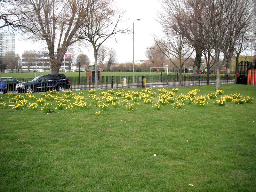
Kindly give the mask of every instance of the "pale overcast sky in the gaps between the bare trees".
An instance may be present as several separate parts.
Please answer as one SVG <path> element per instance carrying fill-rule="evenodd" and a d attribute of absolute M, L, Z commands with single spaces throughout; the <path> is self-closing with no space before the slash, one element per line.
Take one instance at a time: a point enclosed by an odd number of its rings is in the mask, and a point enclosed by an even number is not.
<path fill-rule="evenodd" d="M 117 6 L 125 10 L 124 20 L 122 25 L 124 27 L 130 27 L 132 31 L 133 20 L 140 19 L 140 21 L 134 21 L 134 61 L 147 59 L 145 51 L 148 46 L 153 44 L 152 35 L 159 34 L 161 28 L 156 22 L 156 13 L 159 10 L 160 4 L 158 0 L 116 0 Z M 117 42 L 116 42 L 117 41 Z M 118 62 L 129 62 L 132 61 L 132 32 L 131 34 L 116 35 L 116 41 L 111 38 L 105 45 L 113 47 L 117 52 Z M 16 35 L 16 53 L 20 55 L 25 50 L 41 50 L 39 44 L 32 44 L 29 41 L 20 40 L 19 36 Z M 80 51 L 76 52 L 76 57 L 79 53 L 88 55 L 91 62 L 94 61 L 92 47 L 81 48 Z M 107 60 L 107 58 L 105 59 Z"/>

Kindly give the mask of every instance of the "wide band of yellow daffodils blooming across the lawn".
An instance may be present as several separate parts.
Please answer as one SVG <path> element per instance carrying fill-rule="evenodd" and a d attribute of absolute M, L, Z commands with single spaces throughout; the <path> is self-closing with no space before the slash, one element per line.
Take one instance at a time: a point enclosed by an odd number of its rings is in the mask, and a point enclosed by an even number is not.
<path fill-rule="evenodd" d="M 90 90 L 89 98 L 85 98 L 83 92 L 56 92 L 49 91 L 46 93 L 32 94 L 12 94 L 8 93 L 0 98 L 0 108 L 12 107 L 12 109 L 27 109 L 27 110 L 40 110 L 44 113 L 52 113 L 55 110 L 66 110 L 68 112 L 77 112 L 87 108 L 97 108 L 97 112 L 107 110 L 108 108 L 124 107 L 127 110 L 136 110 L 141 105 L 150 104 L 152 108 L 160 110 L 164 106 L 170 108 L 179 109 L 188 104 L 194 104 L 195 106 L 204 107 L 208 103 L 208 100 L 215 99 L 215 103 L 218 106 L 227 106 L 228 102 L 234 102 L 236 104 L 252 103 L 253 98 L 246 96 L 242 97 L 240 94 L 222 95 L 224 91 L 220 90 L 214 93 L 207 94 L 205 96 L 197 96 L 200 92 L 199 89 L 189 91 L 187 94 L 175 93 L 179 91 L 178 88 L 172 88 L 172 90 L 160 88 L 156 92 L 153 92 L 152 88 L 143 89 L 139 91 L 128 90 L 125 92 L 121 90 L 107 90 L 104 92 L 97 92 Z M 36 96 L 38 96 L 36 98 Z M 7 99 L 8 98 L 8 99 Z M 4 102 L 9 100 L 8 102 Z M 28 102 L 29 100 L 29 102 Z M 14 105 L 14 106 L 12 106 Z M 99 115 L 100 113 L 98 113 Z M 96 114 L 97 115 L 97 114 Z"/>

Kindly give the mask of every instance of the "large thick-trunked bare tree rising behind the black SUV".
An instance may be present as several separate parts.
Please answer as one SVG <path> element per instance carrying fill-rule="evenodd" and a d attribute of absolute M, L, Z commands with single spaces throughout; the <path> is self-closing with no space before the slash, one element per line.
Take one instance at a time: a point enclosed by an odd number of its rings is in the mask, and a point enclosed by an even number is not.
<path fill-rule="evenodd" d="M 50 56 L 52 73 L 58 73 L 68 47 L 80 40 L 77 35 L 87 6 L 85 0 L 20 0 L 27 7 L 25 32 L 35 41 L 43 40 Z M 56 54 L 56 55 L 55 55 Z"/>

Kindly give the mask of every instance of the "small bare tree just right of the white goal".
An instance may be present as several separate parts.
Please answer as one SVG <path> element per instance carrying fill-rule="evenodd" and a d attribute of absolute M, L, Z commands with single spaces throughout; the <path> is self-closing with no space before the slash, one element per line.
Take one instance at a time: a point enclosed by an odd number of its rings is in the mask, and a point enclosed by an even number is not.
<path fill-rule="evenodd" d="M 172 64 L 179 69 L 180 73 L 180 87 L 182 86 L 182 68 L 184 63 L 191 56 L 193 46 L 188 43 L 188 39 L 182 36 L 180 33 L 173 31 L 171 34 L 168 31 L 165 32 L 165 40 L 159 39 L 156 36 L 154 37 L 155 44 L 158 47 L 158 50 L 162 52 Z M 175 62 L 179 61 L 179 64 Z"/>

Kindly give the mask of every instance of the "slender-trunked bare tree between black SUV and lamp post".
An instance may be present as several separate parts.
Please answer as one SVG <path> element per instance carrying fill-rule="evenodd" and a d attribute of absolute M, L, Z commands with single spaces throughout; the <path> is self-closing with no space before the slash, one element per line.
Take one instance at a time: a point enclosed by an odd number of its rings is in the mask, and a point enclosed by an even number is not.
<path fill-rule="evenodd" d="M 83 38 L 92 44 L 94 51 L 95 78 L 94 87 L 98 88 L 98 51 L 100 46 L 111 36 L 128 32 L 117 28 L 124 15 L 114 7 L 112 0 L 88 0 L 90 3 L 84 10 L 84 22 L 81 33 Z"/>

